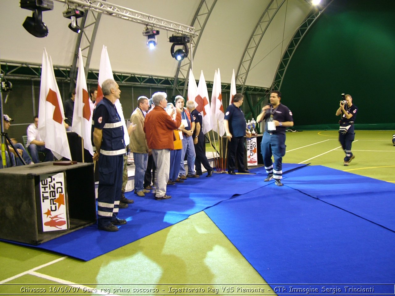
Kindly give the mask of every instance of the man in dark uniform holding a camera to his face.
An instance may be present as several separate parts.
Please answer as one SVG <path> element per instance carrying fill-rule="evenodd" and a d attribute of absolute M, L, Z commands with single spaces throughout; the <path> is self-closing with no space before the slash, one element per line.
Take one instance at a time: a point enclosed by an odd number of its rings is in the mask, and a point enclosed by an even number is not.
<path fill-rule="evenodd" d="M 342 94 L 342 101 L 340 101 L 340 107 L 336 111 L 336 116 L 341 115 L 339 120 L 339 142 L 346 153 L 344 166 L 348 166 L 355 158 L 355 155 L 351 152 L 351 145 L 355 138 L 354 122 L 357 117 L 357 111 L 357 106 L 352 104 L 352 97 L 348 94 Z"/>

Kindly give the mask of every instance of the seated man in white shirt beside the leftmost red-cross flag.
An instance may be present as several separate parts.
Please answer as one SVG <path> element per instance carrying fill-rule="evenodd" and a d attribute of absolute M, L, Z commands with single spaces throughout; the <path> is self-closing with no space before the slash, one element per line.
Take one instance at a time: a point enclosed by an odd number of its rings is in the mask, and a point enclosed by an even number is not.
<path fill-rule="evenodd" d="M 52 151 L 45 148 L 45 142 L 41 140 L 40 133 L 38 132 L 38 116 L 34 116 L 34 123 L 28 126 L 27 130 L 27 143 L 26 147 L 34 163 L 39 163 L 38 152 L 45 154 L 43 161 L 53 161 Z"/>

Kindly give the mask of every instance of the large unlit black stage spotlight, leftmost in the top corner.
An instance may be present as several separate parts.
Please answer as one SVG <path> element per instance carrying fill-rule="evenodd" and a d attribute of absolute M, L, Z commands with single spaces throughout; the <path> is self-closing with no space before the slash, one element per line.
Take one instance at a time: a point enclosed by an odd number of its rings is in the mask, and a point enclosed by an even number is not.
<path fill-rule="evenodd" d="M 45 37 L 48 35 L 48 27 L 43 23 L 43 11 L 53 9 L 51 0 L 21 0 L 21 8 L 33 11 L 31 17 L 26 17 L 23 22 L 23 28 L 36 37 Z"/>

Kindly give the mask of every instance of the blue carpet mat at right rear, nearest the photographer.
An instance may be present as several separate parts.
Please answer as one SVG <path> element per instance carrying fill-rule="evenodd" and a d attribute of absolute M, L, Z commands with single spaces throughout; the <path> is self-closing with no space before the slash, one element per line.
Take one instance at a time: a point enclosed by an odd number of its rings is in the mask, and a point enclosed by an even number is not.
<path fill-rule="evenodd" d="M 305 167 L 284 184 L 395 231 L 395 184 L 323 167 Z"/>

